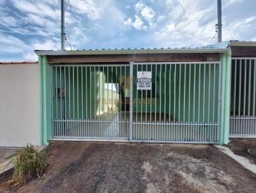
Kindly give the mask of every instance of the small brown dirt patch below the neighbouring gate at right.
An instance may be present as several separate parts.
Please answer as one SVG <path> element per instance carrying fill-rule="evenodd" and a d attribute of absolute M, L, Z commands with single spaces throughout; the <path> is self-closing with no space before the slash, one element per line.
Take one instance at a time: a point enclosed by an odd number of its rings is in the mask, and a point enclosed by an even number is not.
<path fill-rule="evenodd" d="M 248 153 L 248 149 L 256 149 L 256 139 L 232 139 L 228 144 L 235 154 L 246 157 L 252 164 L 256 164 L 256 156 Z"/>

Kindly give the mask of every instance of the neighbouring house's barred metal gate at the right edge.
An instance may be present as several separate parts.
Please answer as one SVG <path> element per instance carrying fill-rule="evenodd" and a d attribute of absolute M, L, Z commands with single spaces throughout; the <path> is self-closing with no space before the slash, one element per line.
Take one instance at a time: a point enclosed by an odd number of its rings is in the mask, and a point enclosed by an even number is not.
<path fill-rule="evenodd" d="M 256 137 L 256 58 L 232 58 L 230 137 Z"/>

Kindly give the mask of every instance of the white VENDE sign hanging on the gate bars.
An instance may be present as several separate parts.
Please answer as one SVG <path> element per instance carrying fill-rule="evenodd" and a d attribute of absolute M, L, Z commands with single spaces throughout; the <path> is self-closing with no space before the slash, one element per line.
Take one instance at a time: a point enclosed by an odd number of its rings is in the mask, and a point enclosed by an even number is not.
<path fill-rule="evenodd" d="M 152 86 L 151 72 L 137 72 L 137 89 L 150 90 Z"/>

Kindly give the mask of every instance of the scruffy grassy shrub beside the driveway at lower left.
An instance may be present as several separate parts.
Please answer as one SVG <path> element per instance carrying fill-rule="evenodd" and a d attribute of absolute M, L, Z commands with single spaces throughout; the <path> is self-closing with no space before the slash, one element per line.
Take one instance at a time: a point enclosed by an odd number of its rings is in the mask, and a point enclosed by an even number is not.
<path fill-rule="evenodd" d="M 19 188 L 28 180 L 40 178 L 47 168 L 47 156 L 45 151 L 37 151 L 31 144 L 21 148 L 13 158 L 13 185 Z"/>

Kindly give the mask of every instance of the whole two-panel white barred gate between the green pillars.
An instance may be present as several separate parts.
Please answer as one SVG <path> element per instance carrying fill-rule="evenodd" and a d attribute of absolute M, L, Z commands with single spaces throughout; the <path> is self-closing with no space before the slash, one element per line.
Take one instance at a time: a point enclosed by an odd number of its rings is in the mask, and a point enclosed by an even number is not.
<path fill-rule="evenodd" d="M 220 67 L 53 65 L 52 138 L 218 143 Z"/>

